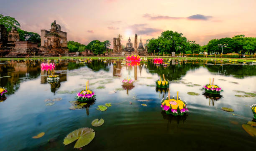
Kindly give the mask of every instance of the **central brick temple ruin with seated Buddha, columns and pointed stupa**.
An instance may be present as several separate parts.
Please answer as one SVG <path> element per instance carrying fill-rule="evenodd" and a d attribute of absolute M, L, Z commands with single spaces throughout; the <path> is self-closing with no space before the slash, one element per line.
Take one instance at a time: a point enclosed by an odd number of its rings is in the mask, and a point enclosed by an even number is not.
<path fill-rule="evenodd" d="M 134 48 L 133 43 L 131 43 L 131 39 L 128 39 L 128 43 L 126 43 L 125 47 L 121 44 L 120 38 L 113 38 L 113 52 L 108 53 L 108 55 L 112 56 L 126 56 L 126 55 L 143 55 L 147 56 L 147 48 L 143 47 L 143 43 L 140 40 L 138 45 L 138 36 L 135 34 L 134 38 Z"/>

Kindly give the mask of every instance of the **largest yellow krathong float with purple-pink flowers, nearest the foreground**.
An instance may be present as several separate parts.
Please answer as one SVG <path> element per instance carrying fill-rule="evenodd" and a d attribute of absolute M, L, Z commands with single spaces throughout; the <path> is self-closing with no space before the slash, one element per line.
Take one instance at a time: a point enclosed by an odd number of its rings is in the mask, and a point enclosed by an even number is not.
<path fill-rule="evenodd" d="M 172 114 L 173 116 L 183 116 L 188 111 L 187 102 L 179 100 L 179 91 L 177 92 L 177 100 L 170 99 L 170 91 L 168 88 L 167 100 L 162 99 L 161 108 L 166 114 Z"/>

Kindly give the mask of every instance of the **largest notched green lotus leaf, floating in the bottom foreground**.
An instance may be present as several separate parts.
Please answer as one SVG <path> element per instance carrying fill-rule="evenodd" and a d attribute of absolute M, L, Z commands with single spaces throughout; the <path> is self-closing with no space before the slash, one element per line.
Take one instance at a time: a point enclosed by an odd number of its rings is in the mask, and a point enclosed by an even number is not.
<path fill-rule="evenodd" d="M 87 127 L 79 128 L 69 133 L 64 138 L 63 144 L 68 145 L 78 139 L 74 145 L 74 148 L 81 148 L 87 145 L 88 143 L 90 143 L 94 137 L 95 137 L 95 132 L 92 128 L 87 128 Z"/>

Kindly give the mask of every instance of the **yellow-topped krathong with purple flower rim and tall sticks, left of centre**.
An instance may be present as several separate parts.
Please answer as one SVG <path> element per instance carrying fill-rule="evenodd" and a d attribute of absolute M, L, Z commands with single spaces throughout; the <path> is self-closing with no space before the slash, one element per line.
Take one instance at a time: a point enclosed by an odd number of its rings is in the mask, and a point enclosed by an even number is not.
<path fill-rule="evenodd" d="M 85 90 L 82 90 L 81 92 L 77 93 L 77 96 L 75 98 L 79 102 L 91 101 L 95 98 L 95 93 L 89 90 L 89 80 L 86 82 Z"/>

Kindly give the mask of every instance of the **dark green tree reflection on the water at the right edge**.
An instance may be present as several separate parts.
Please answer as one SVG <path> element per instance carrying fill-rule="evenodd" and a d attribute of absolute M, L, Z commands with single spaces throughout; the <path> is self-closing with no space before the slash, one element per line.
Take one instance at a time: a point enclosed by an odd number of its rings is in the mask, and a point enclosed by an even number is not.
<path fill-rule="evenodd" d="M 256 65 L 205 65 L 205 67 L 212 73 L 221 73 L 225 76 L 232 75 L 236 78 L 256 76 Z"/>

